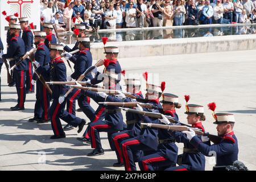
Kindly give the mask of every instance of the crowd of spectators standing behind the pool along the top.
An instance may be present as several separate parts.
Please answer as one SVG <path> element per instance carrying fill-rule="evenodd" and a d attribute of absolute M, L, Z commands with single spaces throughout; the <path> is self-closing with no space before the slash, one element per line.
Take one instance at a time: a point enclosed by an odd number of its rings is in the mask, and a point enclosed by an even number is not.
<path fill-rule="evenodd" d="M 256 22 L 256 0 L 40 0 L 41 23 L 71 32 Z"/>

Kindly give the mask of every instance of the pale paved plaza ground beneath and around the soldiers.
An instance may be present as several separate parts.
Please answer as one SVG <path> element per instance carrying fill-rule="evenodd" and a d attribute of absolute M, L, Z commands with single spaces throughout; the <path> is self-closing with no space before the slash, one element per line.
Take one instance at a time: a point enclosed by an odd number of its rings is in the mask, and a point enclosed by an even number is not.
<path fill-rule="evenodd" d="M 176 111 L 181 122 L 187 122 L 185 94 L 191 96 L 190 104 L 205 106 L 204 127 L 209 133 L 217 134 L 212 112 L 207 109 L 209 102 L 216 102 L 216 111 L 233 113 L 237 121 L 234 133 L 240 150 L 238 158 L 250 170 L 256 170 L 255 57 L 256 51 L 252 50 L 140 57 L 119 62 L 126 73 L 159 74 L 159 82 L 166 81 L 164 92 L 180 97 L 183 106 Z M 70 75 L 70 69 L 67 70 Z M 0 170 L 124 170 L 112 167 L 117 160 L 106 133 L 101 134 L 105 155 L 88 157 L 86 154 L 92 149 L 76 139 L 85 129 L 80 134 L 77 129 L 66 131 L 67 138 L 51 140 L 51 123 L 28 123 L 34 115 L 35 94 L 27 94 L 26 110 L 10 111 L 10 107 L 16 105 L 17 95 L 15 87 L 7 86 L 4 66 L 1 78 Z M 77 115 L 86 118 L 84 113 Z M 183 144 L 178 146 L 180 154 Z M 206 169 L 211 170 L 213 164 L 214 159 L 207 158 Z"/>

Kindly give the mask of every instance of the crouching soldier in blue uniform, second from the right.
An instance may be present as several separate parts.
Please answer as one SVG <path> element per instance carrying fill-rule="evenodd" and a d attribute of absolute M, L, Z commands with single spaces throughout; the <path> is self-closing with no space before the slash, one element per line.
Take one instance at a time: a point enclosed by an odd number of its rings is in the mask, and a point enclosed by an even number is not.
<path fill-rule="evenodd" d="M 188 124 L 204 132 L 205 130 L 202 124 L 202 121 L 205 121 L 204 107 L 196 104 L 187 104 L 185 107 L 185 114 L 188 115 Z M 184 143 L 184 148 L 183 154 L 179 155 L 181 162 L 177 162 L 179 166 L 169 167 L 166 171 L 204 171 L 205 157 L 196 147 L 189 143 L 187 135 L 180 131 L 172 131 L 171 135 L 177 143 Z M 203 140 L 203 142 L 207 142 L 207 139 L 203 136 L 198 135 L 196 137 L 199 140 Z"/>

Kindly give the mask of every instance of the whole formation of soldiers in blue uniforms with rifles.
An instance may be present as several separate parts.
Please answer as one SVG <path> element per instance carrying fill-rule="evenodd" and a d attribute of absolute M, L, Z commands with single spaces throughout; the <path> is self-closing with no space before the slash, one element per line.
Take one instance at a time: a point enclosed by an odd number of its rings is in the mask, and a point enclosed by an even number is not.
<path fill-rule="evenodd" d="M 20 18 L 19 23 L 10 23 L 11 38 L 7 53 L 3 55 L 4 59 L 16 57 L 13 64 L 19 62 L 20 57 L 33 47 L 31 40 L 33 34 L 31 30 L 28 30 L 27 18 Z M 20 38 L 20 29 L 23 30 L 22 38 Z M 175 94 L 163 93 L 165 84 L 159 86 L 147 82 L 147 93 L 143 97 L 140 79 L 126 78 L 126 92 L 122 92 L 122 86 L 119 84 L 121 65 L 117 60 L 118 47 L 104 46 L 106 59 L 101 59 L 92 66 L 90 40 L 84 34 L 85 27 L 76 25 L 76 29 L 79 30 L 79 36 L 73 48 L 69 48 L 64 43 L 56 44 L 55 35 L 52 34 L 52 24 L 44 24 L 44 32 L 33 32 L 36 46 L 35 55 L 22 61 L 14 69 L 18 104 L 11 107 L 12 110 L 24 109 L 25 75 L 27 67 L 30 66 L 28 63 L 32 63 L 36 74 L 27 79 L 31 85 L 36 83 L 36 103 L 34 118 L 29 119 L 29 122 L 51 121 L 54 133 L 51 139 L 65 138 L 64 130 L 71 130 L 73 127 L 78 127 L 78 133 L 82 131 L 86 121 L 76 117 L 77 100 L 81 110 L 90 120 L 83 137 L 77 139 L 90 144 L 94 149 L 88 156 L 103 155 L 104 149 L 101 145 L 100 132 L 108 133 L 110 148 L 117 155 L 117 163 L 113 164 L 114 167 L 125 166 L 127 171 L 136 170 L 135 163 L 138 162 L 141 170 L 204 170 L 205 156 L 212 154 L 212 151 L 215 152 L 217 158 L 214 169 L 232 165 L 238 159 L 238 143 L 233 132 L 235 123 L 233 114 L 213 114 L 214 124 L 217 125 L 217 137 L 220 140 L 211 144 L 210 137 L 203 127 L 203 121 L 205 121 L 203 106 L 186 105 L 185 114 L 187 114 L 188 122 L 186 125 L 179 121 L 176 113 L 176 109 L 180 108 L 179 97 Z M 49 35 L 51 39 L 47 39 Z M 70 53 L 76 49 L 79 49 L 79 52 Z M 67 69 L 62 57 L 65 60 L 71 60 L 75 65 L 75 70 L 70 76 L 67 76 Z M 101 66 L 104 67 L 102 73 L 97 70 Z M 32 71 L 28 72 L 32 73 Z M 144 73 L 143 76 L 147 81 L 147 73 Z M 46 82 L 42 82 L 39 77 L 43 77 Z M 71 84 L 72 80 L 75 80 L 73 81 L 75 84 Z M 56 82 L 63 82 L 63 84 L 55 84 Z M 106 90 L 112 90 L 114 94 L 94 92 L 92 89 L 88 89 L 88 86 L 97 89 L 96 85 L 100 82 L 103 82 Z M 52 84 L 52 94 L 46 87 L 47 83 Z M 69 83 L 69 85 L 65 83 Z M 98 104 L 96 110 L 90 105 L 90 99 Z M 188 102 L 188 100 L 189 98 L 186 96 L 186 101 Z M 108 104 L 108 102 L 112 102 L 112 104 Z M 126 110 L 126 121 L 123 121 L 118 103 L 122 103 L 126 107 L 126 103 L 133 102 L 135 107 L 130 106 L 130 110 Z M 148 104 L 149 107 L 143 107 L 141 102 Z M 65 109 L 66 105 L 67 109 Z M 210 104 L 213 111 L 215 107 L 214 104 Z M 153 116 L 149 117 L 139 112 L 152 113 Z M 154 117 L 154 113 L 158 113 L 158 117 Z M 63 128 L 60 119 L 67 122 L 68 125 Z M 148 127 L 142 128 L 142 123 L 147 123 Z M 154 124 L 168 126 L 168 130 L 156 128 Z M 189 126 L 187 131 L 175 130 L 175 126 L 183 125 Z M 197 130 L 194 129 L 199 129 L 203 134 L 196 134 Z M 178 148 L 175 142 L 184 143 L 183 155 L 177 155 Z"/>

